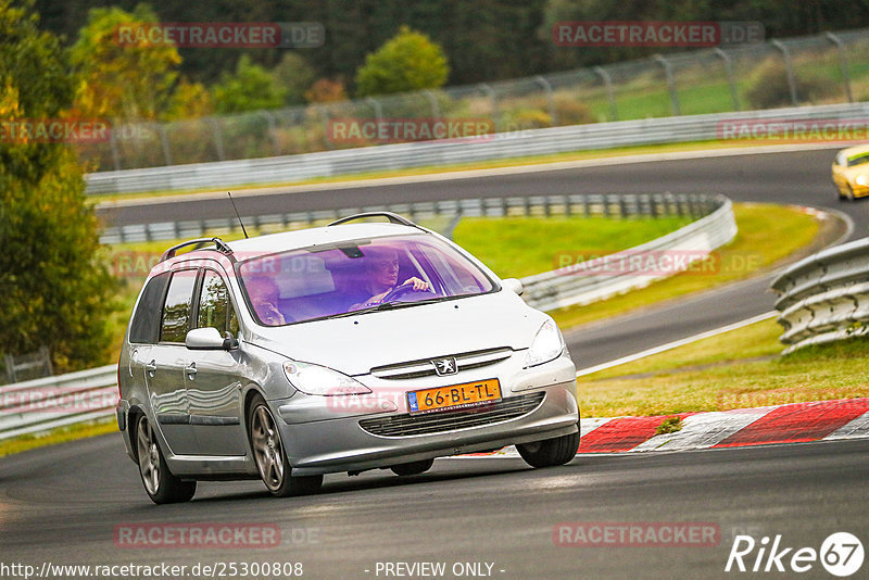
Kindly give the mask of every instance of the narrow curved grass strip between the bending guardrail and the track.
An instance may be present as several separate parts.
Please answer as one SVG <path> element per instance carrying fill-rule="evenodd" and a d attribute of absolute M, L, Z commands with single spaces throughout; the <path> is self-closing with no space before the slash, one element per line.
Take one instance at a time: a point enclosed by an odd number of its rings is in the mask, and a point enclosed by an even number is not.
<path fill-rule="evenodd" d="M 739 234 L 717 251 L 720 265 L 709 259 L 700 266 L 707 268 L 703 272 L 718 268 L 717 273 L 684 272 L 626 294 L 550 314 L 561 328 L 570 328 L 744 279 L 809 244 L 819 228 L 814 216 L 794 207 L 735 203 L 733 214 Z"/>

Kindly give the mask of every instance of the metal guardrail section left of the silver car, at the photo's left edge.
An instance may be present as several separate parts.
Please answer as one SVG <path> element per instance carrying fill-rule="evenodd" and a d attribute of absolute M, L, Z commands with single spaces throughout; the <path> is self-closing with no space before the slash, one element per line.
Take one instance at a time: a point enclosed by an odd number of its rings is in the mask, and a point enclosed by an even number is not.
<path fill-rule="evenodd" d="M 110 417 L 117 398 L 117 365 L 5 384 L 0 440 Z"/>

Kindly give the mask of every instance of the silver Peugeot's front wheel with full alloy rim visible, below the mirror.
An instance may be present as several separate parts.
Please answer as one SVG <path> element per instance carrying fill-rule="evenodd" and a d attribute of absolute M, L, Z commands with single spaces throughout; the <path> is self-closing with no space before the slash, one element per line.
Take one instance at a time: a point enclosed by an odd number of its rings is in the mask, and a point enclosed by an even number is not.
<path fill-rule="evenodd" d="M 260 478 L 275 497 L 307 495 L 319 491 L 323 476 L 291 476 L 280 429 L 265 400 L 256 395 L 248 409 L 248 441 Z"/>

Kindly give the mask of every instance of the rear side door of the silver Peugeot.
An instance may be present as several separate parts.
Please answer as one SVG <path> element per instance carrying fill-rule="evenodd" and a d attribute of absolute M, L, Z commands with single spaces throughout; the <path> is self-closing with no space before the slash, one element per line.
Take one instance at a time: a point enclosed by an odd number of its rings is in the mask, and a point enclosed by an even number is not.
<path fill-rule="evenodd" d="M 151 407 L 169 450 L 176 455 L 199 454 L 184 378 L 191 352 L 184 341 L 191 323 L 197 273 L 197 268 L 172 273 L 161 313 L 160 338 L 144 363 Z"/>

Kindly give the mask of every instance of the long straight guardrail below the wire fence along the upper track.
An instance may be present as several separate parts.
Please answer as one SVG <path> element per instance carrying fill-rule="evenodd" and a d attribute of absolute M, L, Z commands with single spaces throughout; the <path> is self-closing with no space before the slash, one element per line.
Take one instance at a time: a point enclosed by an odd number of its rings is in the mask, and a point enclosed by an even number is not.
<path fill-rule="evenodd" d="M 87 192 L 92 196 L 200 188 L 224 189 L 585 149 L 708 141 L 719 139 L 719 126 L 728 121 L 866 117 L 869 117 L 869 103 L 622 121 L 496 134 L 489 140 L 459 139 L 398 143 L 278 157 L 101 172 L 87 175 L 86 180 Z"/>

